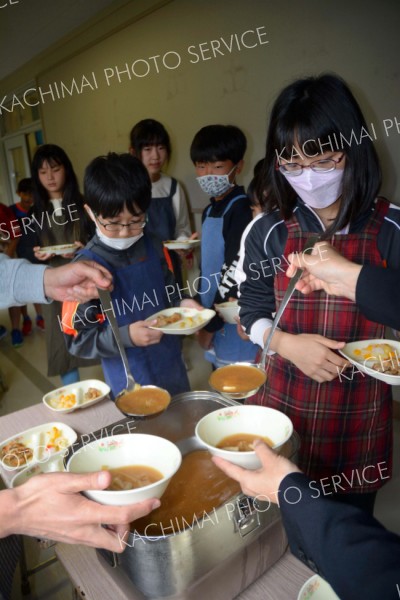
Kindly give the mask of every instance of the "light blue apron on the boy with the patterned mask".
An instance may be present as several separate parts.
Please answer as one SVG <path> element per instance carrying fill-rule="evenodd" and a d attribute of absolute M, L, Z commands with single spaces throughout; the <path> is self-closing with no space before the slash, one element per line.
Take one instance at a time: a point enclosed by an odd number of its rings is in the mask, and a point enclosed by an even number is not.
<path fill-rule="evenodd" d="M 210 217 L 212 206 L 206 212 L 201 228 L 201 303 L 205 308 L 212 308 L 215 294 L 221 280 L 221 269 L 225 258 L 225 240 L 223 236 L 224 216 L 231 206 L 241 198 L 235 196 L 226 206 L 220 217 Z M 222 367 L 233 362 L 254 362 L 258 346 L 252 342 L 242 340 L 237 333 L 237 326 L 225 323 L 213 337 L 213 348 L 204 354 L 206 360 L 215 367 Z"/>

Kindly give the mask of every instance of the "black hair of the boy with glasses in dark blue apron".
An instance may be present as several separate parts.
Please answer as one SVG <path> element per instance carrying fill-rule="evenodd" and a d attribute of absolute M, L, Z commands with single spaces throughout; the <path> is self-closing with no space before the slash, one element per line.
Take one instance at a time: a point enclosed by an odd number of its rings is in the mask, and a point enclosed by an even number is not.
<path fill-rule="evenodd" d="M 126 207 L 133 216 L 146 212 L 151 201 L 151 181 L 146 168 L 131 154 L 110 152 L 86 167 L 84 193 L 96 215 L 113 218 Z"/>

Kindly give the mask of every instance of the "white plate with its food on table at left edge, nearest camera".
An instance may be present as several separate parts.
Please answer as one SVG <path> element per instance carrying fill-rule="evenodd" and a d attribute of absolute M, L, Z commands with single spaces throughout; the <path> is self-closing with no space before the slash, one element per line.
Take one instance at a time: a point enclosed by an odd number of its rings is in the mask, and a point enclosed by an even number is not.
<path fill-rule="evenodd" d="M 77 439 L 76 432 L 64 423 L 45 423 L 0 442 L 0 464 L 16 471 L 35 463 L 45 463 L 65 452 Z"/>

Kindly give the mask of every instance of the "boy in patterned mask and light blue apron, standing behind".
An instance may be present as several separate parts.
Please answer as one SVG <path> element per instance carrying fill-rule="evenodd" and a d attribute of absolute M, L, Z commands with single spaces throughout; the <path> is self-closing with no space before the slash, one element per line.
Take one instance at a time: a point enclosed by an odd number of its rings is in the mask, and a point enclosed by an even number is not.
<path fill-rule="evenodd" d="M 196 133 L 190 147 L 197 181 L 210 198 L 202 215 L 201 289 L 205 308 L 237 297 L 234 273 L 240 239 L 252 219 L 249 198 L 237 185 L 243 168 L 246 137 L 234 125 L 208 125 Z M 253 362 L 257 346 L 242 339 L 237 326 L 219 316 L 198 334 L 205 357 L 213 367 L 238 361 Z"/>

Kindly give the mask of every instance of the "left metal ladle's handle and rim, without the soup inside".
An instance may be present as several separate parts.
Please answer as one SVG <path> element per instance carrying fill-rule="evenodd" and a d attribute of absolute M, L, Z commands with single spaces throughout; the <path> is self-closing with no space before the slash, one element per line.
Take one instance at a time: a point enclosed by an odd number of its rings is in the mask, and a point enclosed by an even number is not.
<path fill-rule="evenodd" d="M 100 298 L 100 302 L 103 307 L 103 312 L 107 316 L 107 319 L 110 323 L 110 327 L 112 329 L 115 341 L 117 343 L 118 350 L 119 350 L 119 353 L 120 353 L 120 356 L 122 359 L 122 363 L 124 365 L 125 375 L 126 375 L 126 388 L 124 390 L 122 390 L 122 392 L 120 392 L 118 394 L 118 396 L 115 398 L 115 404 L 116 404 L 117 408 L 119 408 L 118 399 L 122 398 L 122 396 L 125 396 L 128 393 L 136 392 L 137 390 L 146 389 L 146 388 L 152 388 L 154 390 L 162 390 L 163 392 L 165 392 L 166 395 L 168 395 L 168 401 L 166 402 L 166 405 L 162 409 L 158 409 L 156 412 L 149 412 L 149 413 L 132 412 L 131 413 L 131 412 L 126 412 L 125 410 L 120 409 L 121 412 L 123 412 L 125 415 L 127 415 L 129 417 L 137 417 L 137 418 L 153 417 L 153 416 L 163 412 L 167 408 L 167 406 L 169 405 L 169 402 L 171 400 L 171 397 L 166 390 L 163 390 L 162 388 L 159 388 L 158 386 L 153 385 L 153 386 L 143 386 L 142 387 L 139 383 L 136 383 L 136 381 L 133 378 L 132 372 L 130 370 L 128 357 L 126 356 L 125 348 L 123 346 L 121 336 L 119 334 L 118 323 L 117 323 L 117 319 L 115 318 L 114 308 L 112 305 L 110 292 L 107 290 L 101 290 L 100 288 L 98 288 L 97 291 L 99 293 L 99 298 Z"/>

